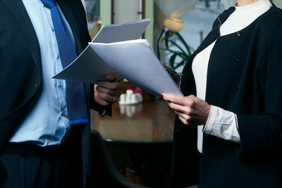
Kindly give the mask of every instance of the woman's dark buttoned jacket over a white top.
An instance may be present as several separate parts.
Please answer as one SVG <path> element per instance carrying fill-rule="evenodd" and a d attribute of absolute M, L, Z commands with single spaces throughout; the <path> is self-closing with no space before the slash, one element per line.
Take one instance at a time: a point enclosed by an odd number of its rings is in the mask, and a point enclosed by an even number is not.
<path fill-rule="evenodd" d="M 219 15 L 221 22 L 234 10 Z M 219 25 L 185 65 L 181 91 L 196 95 L 192 60 L 217 39 L 206 101 L 237 115 L 240 144 L 204 134 L 200 155 L 197 127 L 176 117 L 172 173 L 180 185 L 200 178 L 204 188 L 282 187 L 282 11 L 273 6 L 231 35 L 219 37 Z"/>

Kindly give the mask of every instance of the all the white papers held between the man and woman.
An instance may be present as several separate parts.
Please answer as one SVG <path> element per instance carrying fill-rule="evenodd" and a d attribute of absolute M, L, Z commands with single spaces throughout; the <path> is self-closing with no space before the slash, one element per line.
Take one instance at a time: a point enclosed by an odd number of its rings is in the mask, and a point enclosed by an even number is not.
<path fill-rule="evenodd" d="M 73 63 L 53 78 L 97 83 L 118 73 L 154 94 L 183 96 L 146 39 L 140 39 L 151 20 L 106 25 Z"/>

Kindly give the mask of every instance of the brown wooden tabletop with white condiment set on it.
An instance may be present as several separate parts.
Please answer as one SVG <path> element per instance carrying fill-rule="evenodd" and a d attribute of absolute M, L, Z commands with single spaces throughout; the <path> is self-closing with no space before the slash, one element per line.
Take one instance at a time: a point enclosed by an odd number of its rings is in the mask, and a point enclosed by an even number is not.
<path fill-rule="evenodd" d="M 135 111 L 135 113 L 134 113 Z M 112 117 L 92 113 L 92 129 L 107 142 L 152 143 L 173 140 L 174 112 L 166 101 L 113 105 Z"/>

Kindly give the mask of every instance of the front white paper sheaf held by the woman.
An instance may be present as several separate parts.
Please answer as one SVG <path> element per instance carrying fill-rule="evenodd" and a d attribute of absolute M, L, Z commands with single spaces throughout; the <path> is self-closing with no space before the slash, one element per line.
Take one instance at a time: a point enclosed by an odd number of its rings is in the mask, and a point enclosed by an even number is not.
<path fill-rule="evenodd" d="M 154 94 L 183 96 L 146 39 L 90 46 L 111 68 L 137 87 Z"/>

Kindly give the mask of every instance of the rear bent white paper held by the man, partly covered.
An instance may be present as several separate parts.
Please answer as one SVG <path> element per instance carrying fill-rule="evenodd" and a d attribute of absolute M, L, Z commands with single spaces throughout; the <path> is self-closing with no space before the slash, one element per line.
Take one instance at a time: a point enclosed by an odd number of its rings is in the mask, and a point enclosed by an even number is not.
<path fill-rule="evenodd" d="M 110 43 L 140 39 L 150 22 L 150 19 L 143 19 L 125 24 L 105 25 L 92 42 Z M 108 55 L 111 56 L 110 53 Z M 107 73 L 114 72 L 116 71 L 87 46 L 73 63 L 52 78 L 96 83 L 98 80 L 105 80 Z"/>

